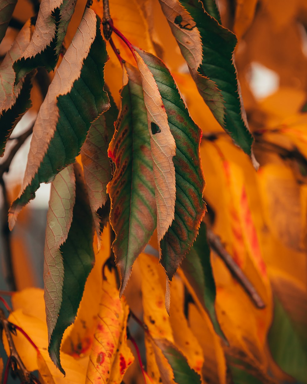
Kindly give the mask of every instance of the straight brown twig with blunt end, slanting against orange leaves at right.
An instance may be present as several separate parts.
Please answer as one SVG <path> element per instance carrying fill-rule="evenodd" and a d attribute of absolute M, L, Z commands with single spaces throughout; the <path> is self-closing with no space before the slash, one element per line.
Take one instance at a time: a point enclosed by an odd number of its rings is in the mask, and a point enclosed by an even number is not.
<path fill-rule="evenodd" d="M 208 243 L 212 250 L 220 256 L 220 258 L 223 260 L 233 277 L 240 283 L 244 291 L 248 294 L 248 296 L 253 301 L 254 305 L 256 305 L 257 308 L 264 308 L 265 304 L 262 301 L 259 293 L 256 291 L 256 288 L 253 286 L 253 284 L 248 280 L 248 278 L 244 275 L 244 272 L 241 270 L 241 268 L 234 262 L 233 258 L 224 248 L 223 244 L 221 243 L 221 239 L 218 235 L 215 235 L 211 229 L 207 229 L 207 238 Z"/>

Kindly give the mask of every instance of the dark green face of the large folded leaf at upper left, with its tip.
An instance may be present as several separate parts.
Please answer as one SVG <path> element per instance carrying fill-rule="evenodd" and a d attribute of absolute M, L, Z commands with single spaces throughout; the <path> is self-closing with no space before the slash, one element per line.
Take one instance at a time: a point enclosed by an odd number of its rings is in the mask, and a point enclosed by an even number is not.
<path fill-rule="evenodd" d="M 10 208 L 10 228 L 15 224 L 22 207 L 35 198 L 35 192 L 40 184 L 50 182 L 61 169 L 75 161 L 86 140 L 91 122 L 109 106 L 109 98 L 103 91 L 104 65 L 107 60 L 106 44 L 102 39 L 99 25 L 100 19 L 96 17 L 96 37 L 83 61 L 80 77 L 74 81 L 67 94 L 56 98 L 59 116 L 54 135 L 47 145 L 47 152 L 38 171 L 31 182 L 24 186 Z M 82 32 L 80 33 L 82 35 Z"/>

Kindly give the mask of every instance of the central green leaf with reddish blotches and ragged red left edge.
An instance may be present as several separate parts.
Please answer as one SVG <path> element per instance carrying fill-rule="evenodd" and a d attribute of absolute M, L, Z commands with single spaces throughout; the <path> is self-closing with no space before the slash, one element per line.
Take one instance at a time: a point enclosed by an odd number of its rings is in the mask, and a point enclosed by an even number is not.
<path fill-rule="evenodd" d="M 120 114 L 109 146 L 116 165 L 107 192 L 111 198 L 110 223 L 116 239 L 112 245 L 122 283 L 129 280 L 132 264 L 149 242 L 156 223 L 150 134 L 142 82 L 137 68 L 125 64 Z"/>

